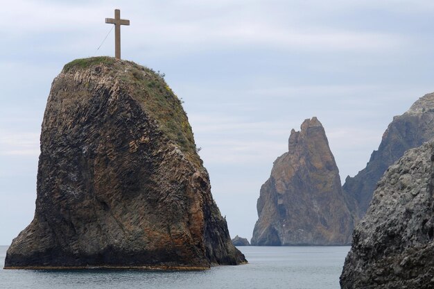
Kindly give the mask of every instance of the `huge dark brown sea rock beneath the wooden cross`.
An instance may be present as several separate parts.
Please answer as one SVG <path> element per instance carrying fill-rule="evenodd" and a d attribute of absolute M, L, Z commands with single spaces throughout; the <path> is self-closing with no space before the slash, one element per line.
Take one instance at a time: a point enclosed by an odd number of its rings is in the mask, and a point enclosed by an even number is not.
<path fill-rule="evenodd" d="M 42 123 L 35 217 L 5 268 L 244 262 L 164 79 L 114 58 L 65 65 Z"/>

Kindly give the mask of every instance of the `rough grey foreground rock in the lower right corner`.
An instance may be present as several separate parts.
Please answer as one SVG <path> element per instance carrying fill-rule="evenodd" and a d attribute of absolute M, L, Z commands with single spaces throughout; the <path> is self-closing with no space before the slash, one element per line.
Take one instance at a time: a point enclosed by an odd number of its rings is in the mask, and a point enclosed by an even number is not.
<path fill-rule="evenodd" d="M 385 172 L 354 229 L 342 288 L 434 288 L 434 142 Z"/>

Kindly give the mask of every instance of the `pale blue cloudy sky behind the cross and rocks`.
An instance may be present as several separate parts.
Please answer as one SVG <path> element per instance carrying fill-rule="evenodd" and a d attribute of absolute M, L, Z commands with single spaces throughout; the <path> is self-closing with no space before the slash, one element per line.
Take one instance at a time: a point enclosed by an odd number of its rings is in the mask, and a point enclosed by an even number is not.
<path fill-rule="evenodd" d="M 33 219 L 51 82 L 71 60 L 114 56 L 105 18 L 115 8 L 130 19 L 122 58 L 166 74 L 184 101 L 232 238 L 250 240 L 261 185 L 304 119 L 322 122 L 345 181 L 365 167 L 392 117 L 434 92 L 431 0 L 8 1 L 0 245 Z"/>

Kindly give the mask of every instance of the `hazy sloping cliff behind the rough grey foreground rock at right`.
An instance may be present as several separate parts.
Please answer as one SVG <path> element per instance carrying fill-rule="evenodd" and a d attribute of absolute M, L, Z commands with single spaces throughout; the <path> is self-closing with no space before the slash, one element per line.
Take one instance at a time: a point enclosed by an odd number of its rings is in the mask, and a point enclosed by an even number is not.
<path fill-rule="evenodd" d="M 426 94 L 403 115 L 393 118 L 377 151 L 372 152 L 365 169 L 353 178 L 347 176 L 343 190 L 356 222 L 365 215 L 376 183 L 385 170 L 404 152 L 434 137 L 434 93 Z"/>

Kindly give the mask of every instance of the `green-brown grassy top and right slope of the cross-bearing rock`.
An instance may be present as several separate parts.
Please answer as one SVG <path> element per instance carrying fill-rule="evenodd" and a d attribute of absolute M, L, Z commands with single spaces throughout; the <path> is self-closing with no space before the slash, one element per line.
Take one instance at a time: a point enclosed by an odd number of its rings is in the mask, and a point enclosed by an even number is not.
<path fill-rule="evenodd" d="M 167 138 L 173 140 L 186 157 L 196 165 L 201 165 L 193 131 L 186 117 L 182 101 L 164 81 L 164 74 L 137 65 L 131 61 L 108 56 L 76 59 L 64 65 L 63 73 L 76 73 L 82 69 L 104 67 L 105 76 L 110 81 L 118 81 L 122 88 L 136 99 L 145 112 L 157 122 Z"/>

